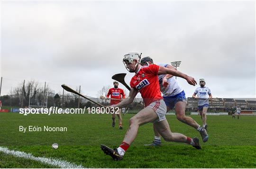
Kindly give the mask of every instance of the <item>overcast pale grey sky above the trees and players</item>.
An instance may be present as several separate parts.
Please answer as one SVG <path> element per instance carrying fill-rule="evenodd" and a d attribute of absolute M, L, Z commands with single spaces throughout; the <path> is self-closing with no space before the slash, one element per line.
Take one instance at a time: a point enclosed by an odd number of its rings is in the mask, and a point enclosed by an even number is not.
<path fill-rule="evenodd" d="M 1 95 L 23 80 L 96 97 L 129 52 L 204 78 L 213 97 L 255 98 L 255 1 L 1 2 Z M 10 80 L 9 80 L 10 79 Z M 191 97 L 195 88 L 177 78 Z M 199 85 L 197 85 L 198 87 Z M 124 88 L 120 85 L 119 87 Z"/>

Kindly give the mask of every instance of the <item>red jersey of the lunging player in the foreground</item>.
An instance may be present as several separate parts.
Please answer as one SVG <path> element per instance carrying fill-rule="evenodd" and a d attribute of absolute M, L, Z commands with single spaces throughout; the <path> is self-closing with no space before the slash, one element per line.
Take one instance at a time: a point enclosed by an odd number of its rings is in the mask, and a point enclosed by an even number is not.
<path fill-rule="evenodd" d="M 162 99 L 157 77 L 158 70 L 159 66 L 156 64 L 141 66 L 138 73 L 131 79 L 130 86 L 139 90 L 145 107 L 155 100 Z"/>

